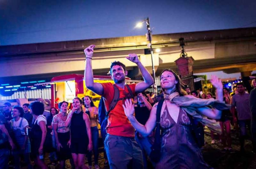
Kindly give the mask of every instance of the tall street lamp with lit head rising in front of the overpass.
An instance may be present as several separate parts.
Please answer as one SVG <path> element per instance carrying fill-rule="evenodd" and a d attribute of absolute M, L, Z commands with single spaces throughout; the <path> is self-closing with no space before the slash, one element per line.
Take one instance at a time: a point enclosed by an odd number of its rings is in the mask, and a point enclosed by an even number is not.
<path fill-rule="evenodd" d="M 146 23 L 147 30 L 148 30 L 148 33 L 146 33 L 146 38 L 149 41 L 148 48 L 150 49 L 150 55 L 151 55 L 151 61 L 152 61 L 152 76 L 153 76 L 153 79 L 154 79 L 153 91 L 154 91 L 154 94 L 157 94 L 156 73 L 155 73 L 155 66 L 154 66 L 154 59 L 153 59 L 154 55 L 153 55 L 153 48 L 152 48 L 152 43 L 151 43 L 151 40 L 152 40 L 151 33 L 152 33 L 152 31 L 150 30 L 150 26 L 149 26 L 149 18 L 146 18 L 146 19 L 142 20 L 135 27 L 136 28 L 142 27 L 143 22 Z"/>

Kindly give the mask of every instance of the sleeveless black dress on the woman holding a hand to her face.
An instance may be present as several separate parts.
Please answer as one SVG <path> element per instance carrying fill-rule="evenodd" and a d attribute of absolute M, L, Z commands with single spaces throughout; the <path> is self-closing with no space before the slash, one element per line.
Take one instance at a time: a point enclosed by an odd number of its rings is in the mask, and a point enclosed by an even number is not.
<path fill-rule="evenodd" d="M 86 154 L 88 150 L 88 135 L 83 119 L 84 112 L 74 113 L 71 118 L 71 153 Z"/>

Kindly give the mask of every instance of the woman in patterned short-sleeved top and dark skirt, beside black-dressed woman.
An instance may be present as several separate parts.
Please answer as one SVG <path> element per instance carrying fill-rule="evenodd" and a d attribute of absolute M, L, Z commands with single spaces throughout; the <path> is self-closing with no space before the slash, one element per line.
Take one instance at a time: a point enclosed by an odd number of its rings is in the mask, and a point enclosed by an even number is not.
<path fill-rule="evenodd" d="M 62 101 L 59 103 L 58 107 L 60 113 L 53 117 L 52 126 L 57 146 L 57 159 L 64 169 L 66 159 L 71 159 L 72 157 L 70 151 L 70 130 L 69 127 L 65 127 L 65 121 L 68 117 L 68 102 Z M 70 160 L 70 163 L 71 162 L 72 161 Z"/>

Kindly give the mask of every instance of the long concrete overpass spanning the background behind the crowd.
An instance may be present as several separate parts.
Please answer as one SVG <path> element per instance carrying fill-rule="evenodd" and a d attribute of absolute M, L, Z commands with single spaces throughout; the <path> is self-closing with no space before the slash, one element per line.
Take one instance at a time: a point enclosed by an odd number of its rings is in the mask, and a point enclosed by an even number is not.
<path fill-rule="evenodd" d="M 161 48 L 154 55 L 156 75 L 166 68 L 176 69 L 174 61 L 180 57 L 180 37 L 186 42 L 188 56 L 195 59 L 194 73 L 223 70 L 250 74 L 256 70 L 256 27 L 251 27 L 153 35 L 153 48 Z M 144 55 L 145 36 L 131 36 L 0 46 L 0 81 L 83 73 L 83 49 L 91 44 L 96 45 L 92 60 L 94 74 L 106 75 L 111 62 L 118 60 L 127 66 L 128 76 L 139 76 L 136 65 L 124 58 L 129 53 L 140 55 L 140 61 L 152 72 L 151 57 Z"/>

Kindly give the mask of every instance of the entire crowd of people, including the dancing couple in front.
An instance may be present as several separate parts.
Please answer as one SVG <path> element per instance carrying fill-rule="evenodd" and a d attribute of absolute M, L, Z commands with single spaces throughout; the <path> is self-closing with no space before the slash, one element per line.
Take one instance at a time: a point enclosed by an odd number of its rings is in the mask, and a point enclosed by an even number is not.
<path fill-rule="evenodd" d="M 84 49 L 84 80 L 86 87 L 104 100 L 107 123 L 106 126 L 100 124 L 101 135 L 106 163 L 111 169 L 141 169 L 149 168 L 148 165 L 161 169 L 211 168 L 204 161 L 202 145 L 195 138 L 195 123 L 211 130 L 212 144 L 217 133 L 224 152 L 233 152 L 231 124 L 240 131 L 240 151 L 244 152 L 248 127 L 256 152 L 255 80 L 252 80 L 254 89 L 250 93 L 243 83 L 238 83 L 230 94 L 221 80 L 212 76 L 213 95 L 183 88 L 174 71 L 164 70 L 160 74 L 162 92 L 154 95 L 145 92 L 154 80 L 136 54 L 126 58 L 138 66 L 144 81 L 125 84 L 125 65 L 115 61 L 110 66 L 114 84 L 95 83 L 94 48 L 91 45 Z M 90 96 L 74 98 L 72 108 L 66 101 L 59 102 L 58 109 L 52 107 L 50 112 L 44 110 L 40 101 L 12 109 L 10 103 L 4 103 L 4 111 L 0 113 L 0 168 L 8 168 L 11 160 L 14 168 L 19 169 L 22 157 L 28 168 L 32 168 L 33 162 L 34 166 L 46 169 L 45 152 L 52 165 L 57 165 L 58 161 L 63 169 L 66 160 L 72 168 L 92 168 L 93 154 L 94 168 L 99 168 L 99 112 Z M 85 157 L 89 166 L 84 163 Z"/>

